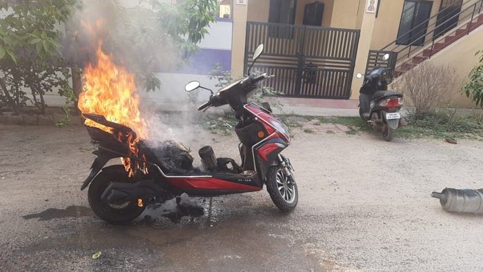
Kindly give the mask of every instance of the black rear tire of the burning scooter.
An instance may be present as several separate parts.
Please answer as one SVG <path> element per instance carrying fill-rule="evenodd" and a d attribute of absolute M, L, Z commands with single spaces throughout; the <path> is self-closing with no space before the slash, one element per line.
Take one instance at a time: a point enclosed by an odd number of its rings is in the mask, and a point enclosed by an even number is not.
<path fill-rule="evenodd" d="M 109 166 L 108 171 L 101 171 L 89 186 L 88 200 L 92 211 L 102 220 L 110 224 L 128 224 L 143 213 L 146 206 L 139 207 L 137 202 L 130 201 L 121 205 L 111 205 L 101 200 L 101 195 L 110 182 L 130 182 L 124 166 Z"/>

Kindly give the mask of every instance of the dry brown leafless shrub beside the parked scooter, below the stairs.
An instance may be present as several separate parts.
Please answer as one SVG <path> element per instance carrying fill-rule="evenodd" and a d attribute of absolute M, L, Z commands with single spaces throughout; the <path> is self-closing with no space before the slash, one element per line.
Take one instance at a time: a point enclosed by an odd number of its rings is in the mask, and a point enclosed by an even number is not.
<path fill-rule="evenodd" d="M 451 93 L 459 88 L 452 76 L 455 72 L 451 66 L 423 62 L 397 78 L 393 88 L 404 95 L 411 116 L 421 119 L 449 103 Z"/>

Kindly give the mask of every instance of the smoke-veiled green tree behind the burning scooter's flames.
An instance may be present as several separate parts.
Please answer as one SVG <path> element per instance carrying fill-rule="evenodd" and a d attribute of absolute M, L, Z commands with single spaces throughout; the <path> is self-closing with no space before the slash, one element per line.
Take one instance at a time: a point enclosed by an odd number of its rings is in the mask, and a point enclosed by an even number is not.
<path fill-rule="evenodd" d="M 91 7 L 95 7 L 96 12 L 90 12 Z M 208 33 L 209 24 L 215 21 L 217 0 L 184 0 L 177 4 L 141 0 L 135 8 L 124 8 L 116 0 L 83 0 L 82 10 L 86 15 L 67 25 L 70 43 L 66 55 L 72 66 L 83 65 L 82 59 L 86 56 L 79 56 L 79 52 L 92 52 L 92 46 L 97 46 L 86 45 L 85 39 L 79 37 L 86 18 L 101 20 L 103 30 L 97 30 L 99 37 L 95 39 L 102 39 L 103 50 L 114 52 L 115 58 L 135 73 L 137 85 L 150 91 L 161 88 L 155 72 L 159 71 L 160 64 L 166 63 L 166 57 L 179 56 L 176 62 L 182 64 L 198 49 L 197 43 Z M 96 13 L 101 15 L 91 16 Z M 90 50 L 85 50 L 86 46 L 91 46 Z M 80 81 L 80 77 L 77 80 Z M 76 94 L 80 91 L 80 87 L 75 88 Z"/>

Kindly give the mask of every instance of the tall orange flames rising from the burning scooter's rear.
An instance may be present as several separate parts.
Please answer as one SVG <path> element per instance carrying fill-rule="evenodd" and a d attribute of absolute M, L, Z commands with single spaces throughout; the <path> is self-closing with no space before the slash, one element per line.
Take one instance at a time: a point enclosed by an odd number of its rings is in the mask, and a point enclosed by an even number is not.
<path fill-rule="evenodd" d="M 79 95 L 78 107 L 82 113 L 102 115 L 110 122 L 122 124 L 135 131 L 134 135 L 125 135 L 130 155 L 138 157 L 137 143 L 146 137 L 146 122 L 139 112 L 139 96 L 135 86 L 135 76 L 124 67 L 116 66 L 112 55 L 102 51 L 102 42 L 97 47 L 97 62 L 88 64 L 83 72 L 84 88 Z M 93 126 L 108 133 L 112 128 L 86 119 L 86 126 Z M 118 135 L 119 141 L 123 135 Z M 121 141 L 122 142 L 122 141 Z M 144 157 L 143 157 L 144 158 Z M 133 175 L 131 159 L 121 159 L 129 175 Z M 139 164 L 137 164 L 139 167 Z"/>

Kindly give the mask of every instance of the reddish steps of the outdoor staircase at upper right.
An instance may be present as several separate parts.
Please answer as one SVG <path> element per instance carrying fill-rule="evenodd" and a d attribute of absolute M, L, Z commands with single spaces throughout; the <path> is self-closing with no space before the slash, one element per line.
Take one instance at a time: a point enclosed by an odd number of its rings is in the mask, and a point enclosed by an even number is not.
<path fill-rule="evenodd" d="M 451 43 L 454 43 L 459 39 L 464 39 L 464 37 L 468 35 L 469 32 L 479 28 L 482 25 L 483 25 L 483 12 L 475 16 L 473 20 L 470 20 L 467 23 L 464 23 L 461 26 L 456 27 L 455 30 L 445 33 L 443 37 L 438 37 L 437 39 L 439 41 L 437 41 L 433 45 L 428 46 L 422 50 L 419 50 L 415 54 L 410 55 L 408 59 L 404 59 L 404 61 L 400 61 L 399 63 L 397 63 L 393 76 L 400 77 L 401 75 L 404 74 L 404 72 L 411 70 L 418 64 L 421 64 L 422 62 L 426 61 L 426 59 L 433 57 L 438 52 L 440 52 L 444 48 L 451 45 Z"/>

